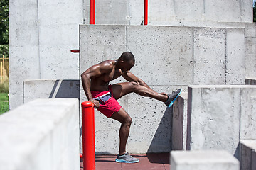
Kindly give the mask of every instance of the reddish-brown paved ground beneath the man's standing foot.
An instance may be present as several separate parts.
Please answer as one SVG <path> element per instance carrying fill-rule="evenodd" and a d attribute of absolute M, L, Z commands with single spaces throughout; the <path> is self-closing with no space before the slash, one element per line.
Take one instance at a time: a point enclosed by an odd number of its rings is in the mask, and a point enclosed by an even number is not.
<path fill-rule="evenodd" d="M 124 164 L 114 162 L 117 155 L 96 155 L 96 170 L 170 170 L 169 153 L 132 154 L 139 159 L 139 163 Z M 82 170 L 82 162 L 80 163 Z"/>

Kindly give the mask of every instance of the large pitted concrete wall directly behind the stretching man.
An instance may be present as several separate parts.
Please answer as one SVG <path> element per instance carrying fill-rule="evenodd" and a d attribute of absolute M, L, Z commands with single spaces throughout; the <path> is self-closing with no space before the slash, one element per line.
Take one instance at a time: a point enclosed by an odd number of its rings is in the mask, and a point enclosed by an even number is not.
<path fill-rule="evenodd" d="M 136 58 L 132 72 L 159 92 L 168 93 L 179 87 L 186 91 L 188 84 L 244 84 L 243 28 L 80 26 L 80 73 L 92 64 L 117 59 L 127 50 Z M 124 79 L 110 83 L 120 81 Z M 81 101 L 87 100 L 82 86 L 80 88 Z M 133 134 L 132 126 L 128 141 L 128 148 L 132 151 L 129 152 L 168 152 L 171 149 L 167 147 L 171 146 L 171 133 L 166 134 L 171 131 L 171 115 L 162 103 L 135 94 L 122 98 L 120 103 L 134 118 L 133 125 L 137 126 L 134 130 L 143 132 L 141 135 Z M 102 117 L 95 119 L 96 150 L 116 153 L 119 125 L 112 120 L 102 120 Z M 161 125 L 161 119 L 164 125 Z M 106 127 L 110 129 L 107 132 Z M 157 132 L 157 127 L 161 132 Z M 161 138 L 161 135 L 164 136 Z M 153 142 L 154 137 L 162 144 Z M 105 138 L 114 141 L 111 146 L 102 143 Z M 159 146 L 149 149 L 153 144 Z"/>

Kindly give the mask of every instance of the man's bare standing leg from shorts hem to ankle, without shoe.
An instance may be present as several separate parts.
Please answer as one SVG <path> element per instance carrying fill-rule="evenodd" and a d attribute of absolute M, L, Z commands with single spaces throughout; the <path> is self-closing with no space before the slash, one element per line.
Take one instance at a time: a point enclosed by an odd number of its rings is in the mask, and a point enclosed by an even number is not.
<path fill-rule="evenodd" d="M 124 108 L 121 108 L 117 113 L 113 113 L 111 118 L 122 123 L 119 130 L 119 155 L 125 154 L 132 118 L 124 111 Z"/>

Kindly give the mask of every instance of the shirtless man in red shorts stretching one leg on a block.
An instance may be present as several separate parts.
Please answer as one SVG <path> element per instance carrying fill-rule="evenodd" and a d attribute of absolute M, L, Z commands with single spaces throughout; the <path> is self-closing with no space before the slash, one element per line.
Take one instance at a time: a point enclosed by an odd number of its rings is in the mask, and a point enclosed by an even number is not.
<path fill-rule="evenodd" d="M 156 93 L 142 79 L 129 72 L 134 67 L 135 59 L 131 52 L 122 53 L 118 60 L 106 60 L 93 65 L 81 74 L 82 86 L 88 101 L 91 101 L 98 111 L 121 123 L 119 130 L 119 154 L 116 162 L 135 163 L 139 159 L 132 157 L 126 152 L 127 138 L 132 118 L 119 105 L 117 99 L 135 92 L 141 96 L 155 98 L 163 101 L 166 106 L 171 107 L 181 89 L 172 94 Z M 110 85 L 110 81 L 117 77 L 124 77 L 128 82 Z"/>

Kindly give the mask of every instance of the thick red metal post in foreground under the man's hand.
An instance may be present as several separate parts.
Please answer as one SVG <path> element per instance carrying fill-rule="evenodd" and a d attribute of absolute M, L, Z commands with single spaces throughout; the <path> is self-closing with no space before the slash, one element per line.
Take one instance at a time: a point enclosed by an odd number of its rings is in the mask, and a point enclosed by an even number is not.
<path fill-rule="evenodd" d="M 95 170 L 94 104 L 82 102 L 82 159 L 84 170 Z"/>

